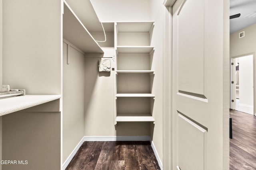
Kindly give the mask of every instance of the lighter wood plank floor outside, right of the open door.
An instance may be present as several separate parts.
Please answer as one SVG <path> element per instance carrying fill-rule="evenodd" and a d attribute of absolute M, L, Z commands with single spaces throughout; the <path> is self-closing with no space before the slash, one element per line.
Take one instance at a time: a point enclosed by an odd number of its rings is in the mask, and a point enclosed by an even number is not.
<path fill-rule="evenodd" d="M 256 117 L 230 110 L 230 170 L 256 170 Z"/>

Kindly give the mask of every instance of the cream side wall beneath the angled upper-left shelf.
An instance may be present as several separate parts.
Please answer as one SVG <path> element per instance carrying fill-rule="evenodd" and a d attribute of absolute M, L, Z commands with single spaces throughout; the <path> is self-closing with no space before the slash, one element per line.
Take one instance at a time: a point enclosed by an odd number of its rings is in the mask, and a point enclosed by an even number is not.
<path fill-rule="evenodd" d="M 70 47 L 69 62 L 67 64 L 67 44 L 63 43 L 63 162 L 84 137 L 84 54 Z"/>

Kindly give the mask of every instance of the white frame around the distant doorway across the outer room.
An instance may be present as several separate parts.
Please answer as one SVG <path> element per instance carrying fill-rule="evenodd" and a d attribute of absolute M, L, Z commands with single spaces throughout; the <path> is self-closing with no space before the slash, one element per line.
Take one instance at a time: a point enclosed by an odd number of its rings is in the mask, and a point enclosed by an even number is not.
<path fill-rule="evenodd" d="M 231 61 L 234 63 L 234 59 L 236 58 L 240 58 L 240 57 L 245 57 L 245 56 L 248 56 L 248 55 L 252 55 L 252 64 L 253 64 L 253 67 L 252 67 L 252 71 L 253 71 L 253 115 L 255 116 L 255 53 L 252 52 L 252 53 L 246 53 L 246 54 L 243 54 L 243 55 L 238 55 L 238 56 L 234 56 L 234 57 L 230 57 Z M 235 65 L 232 67 L 232 80 L 234 80 L 235 76 L 234 76 L 234 73 L 235 73 Z M 230 82 L 231 83 L 231 82 Z M 232 100 L 234 100 L 234 104 L 232 104 L 232 109 L 236 109 L 236 88 L 235 88 L 235 84 L 231 84 L 232 86 Z"/>

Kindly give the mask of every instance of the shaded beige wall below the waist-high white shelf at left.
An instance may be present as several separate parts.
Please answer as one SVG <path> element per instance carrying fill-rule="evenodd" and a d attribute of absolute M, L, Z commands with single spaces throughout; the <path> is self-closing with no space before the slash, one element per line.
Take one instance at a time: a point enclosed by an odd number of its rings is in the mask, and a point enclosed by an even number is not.
<path fill-rule="evenodd" d="M 3 170 L 60 169 L 60 112 L 15 112 L 2 116 L 2 123 L 2 160 L 17 160 Z"/>

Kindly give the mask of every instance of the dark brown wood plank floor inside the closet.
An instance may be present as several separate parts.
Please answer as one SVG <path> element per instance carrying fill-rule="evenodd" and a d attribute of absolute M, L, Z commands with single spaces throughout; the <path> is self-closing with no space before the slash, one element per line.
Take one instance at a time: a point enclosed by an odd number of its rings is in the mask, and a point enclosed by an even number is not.
<path fill-rule="evenodd" d="M 66 170 L 160 170 L 149 141 L 84 142 Z"/>

